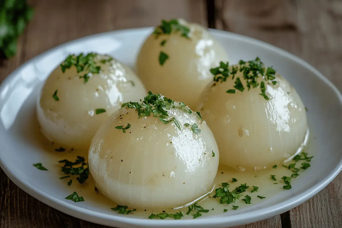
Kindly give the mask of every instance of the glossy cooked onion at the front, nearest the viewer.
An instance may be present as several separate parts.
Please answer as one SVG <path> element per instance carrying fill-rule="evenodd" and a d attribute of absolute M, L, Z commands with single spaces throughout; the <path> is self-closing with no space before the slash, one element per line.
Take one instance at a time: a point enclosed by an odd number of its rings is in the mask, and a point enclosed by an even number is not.
<path fill-rule="evenodd" d="M 97 187 L 107 197 L 133 208 L 170 209 L 212 190 L 219 163 L 212 132 L 196 113 L 177 108 L 168 112 L 181 130 L 152 115 L 138 119 L 131 108 L 118 110 L 98 130 L 88 160 Z M 115 128 L 128 123 L 126 133 Z M 201 132 L 193 133 L 185 123 L 196 123 Z"/>

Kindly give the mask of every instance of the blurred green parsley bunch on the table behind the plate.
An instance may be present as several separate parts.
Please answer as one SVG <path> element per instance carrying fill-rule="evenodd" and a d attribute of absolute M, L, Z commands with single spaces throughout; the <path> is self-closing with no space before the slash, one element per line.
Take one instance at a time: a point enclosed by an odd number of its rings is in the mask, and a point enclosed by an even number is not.
<path fill-rule="evenodd" d="M 17 41 L 33 15 L 26 0 L 0 0 L 0 55 L 13 57 Z"/>

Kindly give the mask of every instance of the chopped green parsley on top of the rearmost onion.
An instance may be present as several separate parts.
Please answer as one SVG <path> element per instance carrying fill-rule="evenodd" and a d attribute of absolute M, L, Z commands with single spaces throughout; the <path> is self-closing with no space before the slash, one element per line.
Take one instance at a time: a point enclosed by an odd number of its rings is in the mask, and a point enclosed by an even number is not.
<path fill-rule="evenodd" d="M 152 34 L 154 34 L 155 38 L 157 39 L 162 34 L 170 35 L 172 31 L 175 33 L 181 32 L 182 37 L 190 38 L 189 37 L 190 28 L 180 24 L 178 20 L 176 19 L 172 19 L 170 21 L 161 20 L 161 25 L 158 26 Z M 160 46 L 164 46 L 166 44 L 166 41 L 167 40 L 162 40 L 160 42 Z M 162 66 L 168 58 L 169 58 L 168 54 L 161 51 L 159 53 L 160 65 Z"/>

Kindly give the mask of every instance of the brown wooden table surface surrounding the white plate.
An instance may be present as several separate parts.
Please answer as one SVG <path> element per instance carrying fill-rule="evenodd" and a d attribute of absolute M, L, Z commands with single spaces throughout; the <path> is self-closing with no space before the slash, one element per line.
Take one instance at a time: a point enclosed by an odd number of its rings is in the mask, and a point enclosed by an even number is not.
<path fill-rule="evenodd" d="M 98 32 L 155 26 L 182 17 L 254 37 L 312 64 L 342 89 L 341 0 L 32 0 L 35 16 L 18 53 L 0 65 L 2 81 L 30 58 L 58 44 Z M 317 196 L 269 219 L 242 227 L 342 227 L 342 174 Z M 14 185 L 0 169 L 0 228 L 90 228 Z"/>

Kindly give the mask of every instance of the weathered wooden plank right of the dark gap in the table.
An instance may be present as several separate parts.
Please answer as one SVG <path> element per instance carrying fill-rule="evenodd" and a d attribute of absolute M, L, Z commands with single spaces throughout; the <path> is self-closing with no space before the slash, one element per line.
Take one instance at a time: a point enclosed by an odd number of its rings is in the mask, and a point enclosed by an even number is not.
<path fill-rule="evenodd" d="M 285 49 L 312 64 L 342 90 L 341 1 L 216 0 L 215 7 L 216 28 Z M 317 196 L 283 214 L 282 227 L 342 227 L 341 185 L 342 174 Z M 255 226 L 274 227 L 274 220 L 279 221 L 279 216 Z"/>

